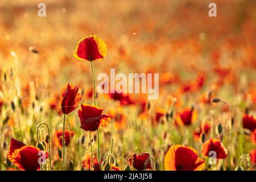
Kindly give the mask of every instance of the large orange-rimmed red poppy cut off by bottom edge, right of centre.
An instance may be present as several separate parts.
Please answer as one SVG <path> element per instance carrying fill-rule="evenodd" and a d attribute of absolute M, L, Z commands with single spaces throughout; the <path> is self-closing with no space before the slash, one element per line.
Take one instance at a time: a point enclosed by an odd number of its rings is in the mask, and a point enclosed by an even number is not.
<path fill-rule="evenodd" d="M 167 171 L 201 171 L 204 166 L 204 160 L 199 158 L 192 147 L 176 144 L 164 156 L 164 167 Z"/>

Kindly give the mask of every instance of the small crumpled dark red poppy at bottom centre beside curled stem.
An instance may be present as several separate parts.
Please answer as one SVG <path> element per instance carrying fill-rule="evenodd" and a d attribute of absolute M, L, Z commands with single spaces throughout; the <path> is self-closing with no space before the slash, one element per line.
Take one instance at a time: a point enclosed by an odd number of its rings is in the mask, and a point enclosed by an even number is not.
<path fill-rule="evenodd" d="M 150 154 L 143 153 L 143 154 L 133 154 L 133 160 L 130 158 L 129 163 L 133 162 L 133 167 L 139 171 L 145 169 L 145 162 L 150 157 Z M 151 162 L 148 160 L 146 169 L 151 169 Z"/>

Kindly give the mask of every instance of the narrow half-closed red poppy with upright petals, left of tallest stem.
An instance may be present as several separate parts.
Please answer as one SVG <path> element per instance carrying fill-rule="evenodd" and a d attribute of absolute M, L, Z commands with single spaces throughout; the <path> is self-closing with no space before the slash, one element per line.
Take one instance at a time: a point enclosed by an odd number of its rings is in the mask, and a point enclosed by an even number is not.
<path fill-rule="evenodd" d="M 81 94 L 77 93 L 79 88 L 68 84 L 66 92 L 63 94 L 61 102 L 61 111 L 64 114 L 69 114 L 77 108 L 79 101 L 81 101 Z"/>

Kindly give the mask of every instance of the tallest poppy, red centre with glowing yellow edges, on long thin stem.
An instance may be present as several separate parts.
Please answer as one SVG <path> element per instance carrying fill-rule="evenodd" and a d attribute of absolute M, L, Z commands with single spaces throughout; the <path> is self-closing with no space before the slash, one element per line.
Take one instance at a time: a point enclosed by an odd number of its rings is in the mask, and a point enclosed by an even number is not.
<path fill-rule="evenodd" d="M 74 56 L 78 60 L 104 60 L 107 48 L 105 42 L 96 35 L 82 38 L 76 46 Z"/>

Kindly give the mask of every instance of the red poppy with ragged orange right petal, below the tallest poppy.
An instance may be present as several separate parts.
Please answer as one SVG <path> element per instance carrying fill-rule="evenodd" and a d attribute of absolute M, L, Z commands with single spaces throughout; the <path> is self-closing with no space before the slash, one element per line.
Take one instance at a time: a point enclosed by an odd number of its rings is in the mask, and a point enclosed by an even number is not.
<path fill-rule="evenodd" d="M 108 115 L 102 115 L 102 111 L 100 107 L 82 104 L 78 111 L 80 127 L 85 131 L 95 131 L 99 127 L 108 126 L 111 118 Z"/>

